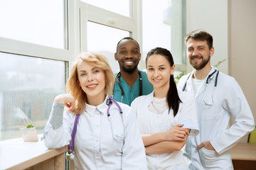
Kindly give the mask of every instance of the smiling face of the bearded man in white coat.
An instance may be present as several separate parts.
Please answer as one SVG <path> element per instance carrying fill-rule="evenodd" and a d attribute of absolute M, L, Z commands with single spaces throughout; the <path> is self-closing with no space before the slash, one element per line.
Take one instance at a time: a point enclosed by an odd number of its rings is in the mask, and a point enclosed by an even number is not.
<path fill-rule="evenodd" d="M 192 67 L 196 70 L 210 67 L 210 57 L 214 54 L 214 48 L 209 46 L 206 40 L 189 39 L 186 42 L 186 54 Z"/>

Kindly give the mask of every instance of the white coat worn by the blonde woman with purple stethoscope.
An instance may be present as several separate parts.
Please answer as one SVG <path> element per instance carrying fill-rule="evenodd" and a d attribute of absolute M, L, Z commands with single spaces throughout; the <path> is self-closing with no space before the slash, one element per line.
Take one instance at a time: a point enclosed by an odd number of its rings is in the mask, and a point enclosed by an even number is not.
<path fill-rule="evenodd" d="M 86 104 L 75 135 L 75 169 L 146 169 L 146 154 L 136 115 L 131 107 L 123 103 L 119 106 L 127 135 L 124 140 L 117 141 L 112 137 L 106 100 L 97 107 Z M 114 135 L 124 135 L 119 109 L 114 103 L 110 118 Z M 74 122 L 75 116 L 66 112 L 63 125 L 57 130 L 48 122 L 44 130 L 46 147 L 54 149 L 68 145 Z"/>

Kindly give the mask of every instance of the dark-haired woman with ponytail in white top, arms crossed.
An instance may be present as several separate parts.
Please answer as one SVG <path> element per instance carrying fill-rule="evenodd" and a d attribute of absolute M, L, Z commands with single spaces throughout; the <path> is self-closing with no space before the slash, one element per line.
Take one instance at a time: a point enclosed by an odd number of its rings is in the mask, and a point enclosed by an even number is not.
<path fill-rule="evenodd" d="M 156 47 L 149 51 L 146 69 L 154 91 L 136 98 L 132 108 L 137 113 L 148 169 L 188 169 L 181 148 L 188 135 L 198 135 L 195 98 L 177 91 L 169 50 Z"/>

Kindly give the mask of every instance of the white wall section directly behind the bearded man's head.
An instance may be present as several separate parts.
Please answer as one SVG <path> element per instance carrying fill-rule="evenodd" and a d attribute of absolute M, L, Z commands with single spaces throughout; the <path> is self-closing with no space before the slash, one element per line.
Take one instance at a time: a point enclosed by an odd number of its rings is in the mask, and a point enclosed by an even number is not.
<path fill-rule="evenodd" d="M 186 33 L 201 28 L 213 35 L 211 65 L 225 60 L 218 69 L 228 74 L 228 0 L 186 1 Z"/>

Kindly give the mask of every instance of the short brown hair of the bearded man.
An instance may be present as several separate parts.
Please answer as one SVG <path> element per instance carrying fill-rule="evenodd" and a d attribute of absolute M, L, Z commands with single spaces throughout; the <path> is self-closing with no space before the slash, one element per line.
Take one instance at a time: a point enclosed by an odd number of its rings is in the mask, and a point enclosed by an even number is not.
<path fill-rule="evenodd" d="M 209 49 L 213 47 L 213 36 L 206 32 L 206 30 L 199 29 L 191 31 L 185 36 L 185 43 L 188 42 L 189 39 L 206 40 Z"/>

